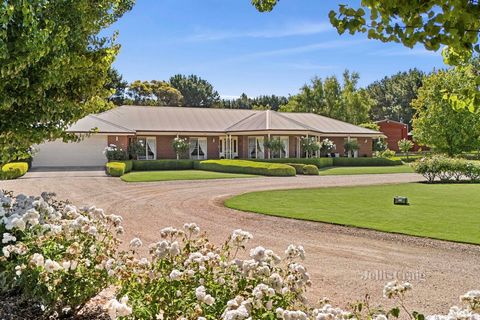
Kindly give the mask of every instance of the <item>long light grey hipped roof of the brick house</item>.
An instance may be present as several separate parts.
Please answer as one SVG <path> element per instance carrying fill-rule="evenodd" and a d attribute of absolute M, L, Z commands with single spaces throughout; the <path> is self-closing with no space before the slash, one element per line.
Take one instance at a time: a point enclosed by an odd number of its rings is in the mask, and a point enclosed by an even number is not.
<path fill-rule="evenodd" d="M 380 136 L 382 133 L 312 113 L 186 107 L 121 106 L 87 116 L 70 132 L 205 132 L 292 131 Z"/>

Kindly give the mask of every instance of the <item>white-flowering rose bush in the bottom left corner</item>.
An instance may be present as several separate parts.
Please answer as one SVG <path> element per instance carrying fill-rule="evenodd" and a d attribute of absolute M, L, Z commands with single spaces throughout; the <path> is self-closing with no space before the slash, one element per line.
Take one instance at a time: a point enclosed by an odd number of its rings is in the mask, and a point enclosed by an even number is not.
<path fill-rule="evenodd" d="M 0 192 L 0 291 L 20 289 L 47 312 L 75 312 L 111 283 L 122 219 L 52 196 Z"/>

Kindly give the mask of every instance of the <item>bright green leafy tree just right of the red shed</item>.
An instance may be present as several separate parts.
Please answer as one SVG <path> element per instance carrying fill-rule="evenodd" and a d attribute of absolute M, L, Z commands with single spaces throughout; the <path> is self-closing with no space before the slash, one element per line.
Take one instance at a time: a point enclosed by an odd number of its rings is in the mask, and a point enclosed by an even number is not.
<path fill-rule="evenodd" d="M 418 98 L 412 102 L 416 110 L 413 137 L 419 144 L 449 155 L 480 148 L 480 113 L 456 111 L 449 100 L 442 98 L 445 88 L 461 90 L 468 86 L 472 70 L 441 70 L 424 79 Z"/>

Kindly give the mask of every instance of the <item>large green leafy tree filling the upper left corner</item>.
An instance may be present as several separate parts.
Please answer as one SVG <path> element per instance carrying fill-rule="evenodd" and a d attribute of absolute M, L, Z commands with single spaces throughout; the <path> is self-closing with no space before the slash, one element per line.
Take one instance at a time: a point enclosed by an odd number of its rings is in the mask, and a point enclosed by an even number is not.
<path fill-rule="evenodd" d="M 100 35 L 132 0 L 9 0 L 0 5 L 0 164 L 110 107 L 119 46 Z M 104 33 L 102 33 L 104 34 Z"/>

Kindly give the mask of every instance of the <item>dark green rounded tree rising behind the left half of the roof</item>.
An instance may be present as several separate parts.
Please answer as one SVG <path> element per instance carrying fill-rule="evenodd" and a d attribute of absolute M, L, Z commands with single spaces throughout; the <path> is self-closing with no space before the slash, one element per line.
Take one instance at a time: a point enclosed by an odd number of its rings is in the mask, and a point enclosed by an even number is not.
<path fill-rule="evenodd" d="M 208 108 L 220 103 L 220 95 L 213 86 L 196 75 L 177 74 L 170 78 L 169 83 L 182 94 L 183 106 Z"/>

